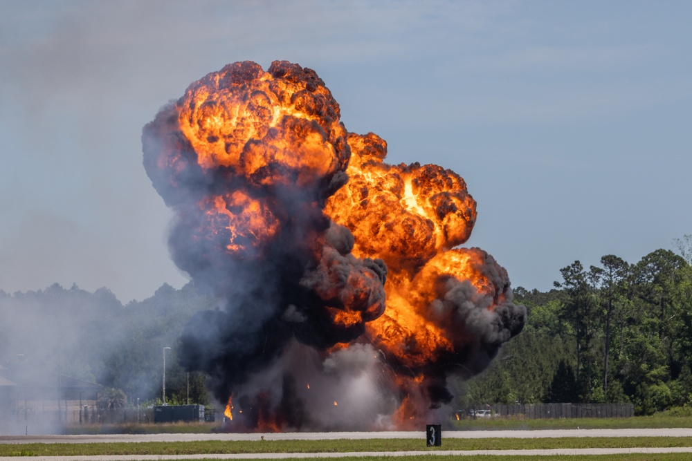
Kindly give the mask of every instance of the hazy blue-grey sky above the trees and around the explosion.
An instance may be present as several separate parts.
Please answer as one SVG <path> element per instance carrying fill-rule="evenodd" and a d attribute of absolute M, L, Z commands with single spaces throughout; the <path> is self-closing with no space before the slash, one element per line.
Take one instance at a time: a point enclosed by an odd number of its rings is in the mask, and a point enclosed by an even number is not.
<path fill-rule="evenodd" d="M 145 123 L 225 64 L 313 68 L 388 162 L 464 177 L 513 286 L 692 234 L 691 1 L 0 0 L 0 290 L 187 278 Z"/>

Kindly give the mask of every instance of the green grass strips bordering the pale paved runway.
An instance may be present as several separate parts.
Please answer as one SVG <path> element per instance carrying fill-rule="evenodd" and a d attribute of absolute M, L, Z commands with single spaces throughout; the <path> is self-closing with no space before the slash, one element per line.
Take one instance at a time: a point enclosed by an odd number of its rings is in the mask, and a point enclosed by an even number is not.
<path fill-rule="evenodd" d="M 650 417 L 622 419 L 579 419 L 579 420 L 522 420 L 500 419 L 462 420 L 453 422 L 454 429 L 462 431 L 499 429 L 650 429 L 692 427 L 689 415 L 659 414 Z M 122 424 L 113 426 L 77 426 L 69 433 L 211 433 L 218 424 Z M 444 435 L 444 433 L 443 433 Z M 77 456 L 77 455 L 158 455 L 165 460 L 167 455 L 204 455 L 212 453 L 354 453 L 370 451 L 421 451 L 426 454 L 396 457 L 349 457 L 340 460 L 437 460 L 455 458 L 439 451 L 459 450 L 522 450 L 522 449 L 581 449 L 581 448 L 637 448 L 637 447 L 689 447 L 692 438 L 641 437 L 641 438 L 538 438 L 538 439 L 453 439 L 445 438 L 439 448 L 426 447 L 423 433 L 421 439 L 392 440 L 255 440 L 255 441 L 204 441 L 204 442 L 134 442 L 95 444 L 0 444 L 0 456 Z M 333 458 L 312 458 L 333 459 Z M 523 455 L 475 455 L 473 460 L 536 460 L 535 456 Z M 540 461 L 564 460 L 565 455 L 542 455 Z M 661 460 L 678 461 L 692 459 L 692 453 L 628 453 L 623 455 L 570 455 L 570 461 L 593 460 Z"/>

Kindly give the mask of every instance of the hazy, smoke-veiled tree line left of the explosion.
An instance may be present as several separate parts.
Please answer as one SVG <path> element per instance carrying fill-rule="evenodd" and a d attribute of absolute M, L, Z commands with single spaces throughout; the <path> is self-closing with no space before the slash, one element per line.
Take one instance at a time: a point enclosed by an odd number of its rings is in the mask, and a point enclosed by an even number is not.
<path fill-rule="evenodd" d="M 104 408 L 161 404 L 166 354 L 166 402 L 210 404 L 206 377 L 185 373 L 176 354 L 190 317 L 216 303 L 193 283 L 180 290 L 164 284 L 149 299 L 125 305 L 107 288 L 90 293 L 56 283 L 0 291 L 0 376 L 3 367 L 19 367 L 42 386 L 58 375 L 95 382 L 104 386 Z"/>

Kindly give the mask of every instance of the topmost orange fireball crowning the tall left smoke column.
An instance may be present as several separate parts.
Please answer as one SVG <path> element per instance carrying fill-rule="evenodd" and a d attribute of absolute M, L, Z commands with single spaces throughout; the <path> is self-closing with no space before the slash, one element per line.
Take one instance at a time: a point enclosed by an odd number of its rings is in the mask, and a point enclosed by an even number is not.
<path fill-rule="evenodd" d="M 292 75 L 275 78 L 295 70 L 272 66 L 278 70 L 267 73 L 255 63 L 229 64 L 190 85 L 179 125 L 199 165 L 231 167 L 255 185 L 291 179 L 272 174 L 277 168 L 293 171 L 299 185 L 342 169 L 347 153 L 335 142 L 346 132 L 327 87 L 316 75 L 307 88 Z"/>

